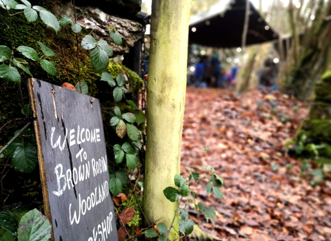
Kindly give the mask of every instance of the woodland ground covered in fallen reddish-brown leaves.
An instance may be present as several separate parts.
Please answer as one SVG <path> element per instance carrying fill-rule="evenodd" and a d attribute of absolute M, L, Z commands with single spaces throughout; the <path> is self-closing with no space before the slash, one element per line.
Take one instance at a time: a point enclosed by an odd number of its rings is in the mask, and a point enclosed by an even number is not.
<path fill-rule="evenodd" d="M 310 185 L 312 170 L 303 176 L 302 162 L 285 147 L 308 105 L 260 90 L 238 98 L 219 89 L 186 94 L 181 175 L 188 177 L 185 167 L 211 166 L 224 180 L 222 200 L 191 180 L 197 201 L 217 218 L 206 222 L 193 207 L 190 218 L 215 240 L 331 240 L 331 182 Z"/>

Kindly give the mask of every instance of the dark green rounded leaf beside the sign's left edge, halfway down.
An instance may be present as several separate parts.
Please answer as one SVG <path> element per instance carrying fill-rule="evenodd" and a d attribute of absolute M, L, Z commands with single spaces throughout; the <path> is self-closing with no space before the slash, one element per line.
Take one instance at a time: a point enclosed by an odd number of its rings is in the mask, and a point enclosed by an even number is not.
<path fill-rule="evenodd" d="M 12 154 L 12 165 L 16 171 L 30 173 L 38 163 L 37 149 L 30 143 L 21 143 Z"/>

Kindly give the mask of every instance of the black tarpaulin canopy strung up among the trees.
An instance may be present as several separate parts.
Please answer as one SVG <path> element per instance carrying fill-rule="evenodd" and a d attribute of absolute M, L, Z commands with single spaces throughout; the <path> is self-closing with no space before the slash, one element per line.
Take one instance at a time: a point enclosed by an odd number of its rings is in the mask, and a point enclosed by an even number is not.
<path fill-rule="evenodd" d="M 278 39 L 250 3 L 250 18 L 246 45 L 264 43 Z M 205 12 L 190 18 L 189 43 L 215 47 L 241 47 L 245 21 L 245 0 L 221 0 Z"/>

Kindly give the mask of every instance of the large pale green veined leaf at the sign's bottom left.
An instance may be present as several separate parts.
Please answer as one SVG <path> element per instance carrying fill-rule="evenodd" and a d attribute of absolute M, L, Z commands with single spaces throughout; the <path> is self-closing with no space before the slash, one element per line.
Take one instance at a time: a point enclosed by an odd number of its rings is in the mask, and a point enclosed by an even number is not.
<path fill-rule="evenodd" d="M 48 241 L 51 232 L 50 221 L 40 211 L 33 209 L 21 219 L 17 238 L 19 241 Z"/>

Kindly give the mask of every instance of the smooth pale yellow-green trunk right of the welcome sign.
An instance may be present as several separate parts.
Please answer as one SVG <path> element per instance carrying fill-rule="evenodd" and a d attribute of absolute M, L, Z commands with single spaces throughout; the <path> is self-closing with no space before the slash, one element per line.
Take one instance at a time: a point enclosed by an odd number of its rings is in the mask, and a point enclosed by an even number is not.
<path fill-rule="evenodd" d="M 189 17 L 190 0 L 152 2 L 143 211 L 146 223 L 161 220 L 168 227 L 178 202 L 165 198 L 163 189 L 174 187 L 174 175 L 179 174 Z M 174 224 L 178 229 L 178 220 Z"/>

